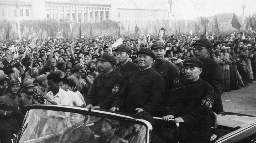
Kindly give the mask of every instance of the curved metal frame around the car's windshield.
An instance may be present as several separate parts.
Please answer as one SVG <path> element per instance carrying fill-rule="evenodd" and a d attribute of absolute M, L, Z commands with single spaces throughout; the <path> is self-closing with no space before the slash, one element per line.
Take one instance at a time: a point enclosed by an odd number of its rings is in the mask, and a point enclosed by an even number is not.
<path fill-rule="evenodd" d="M 146 140 L 145 140 L 146 143 L 148 143 L 150 141 L 151 131 L 153 128 L 152 125 L 150 124 L 150 122 L 148 122 L 145 119 L 142 119 L 141 117 L 139 117 L 137 115 L 126 114 L 126 113 L 121 113 L 121 112 L 117 112 L 117 111 L 105 110 L 105 109 L 89 109 L 89 108 L 76 107 L 76 106 L 50 105 L 50 104 L 40 104 L 39 105 L 38 104 L 38 105 L 30 105 L 28 107 L 28 111 L 23 120 L 23 124 L 17 134 L 17 137 L 15 138 L 15 142 L 19 142 L 20 137 L 23 133 L 22 129 L 26 129 L 26 127 L 24 128 L 24 123 L 29 116 L 28 112 L 30 110 L 36 110 L 36 109 L 86 114 L 89 116 L 96 116 L 96 117 L 100 117 L 100 118 L 116 119 L 116 120 L 120 120 L 120 121 L 142 124 L 146 127 L 146 130 L 147 130 L 146 131 L 146 133 L 147 133 Z"/>

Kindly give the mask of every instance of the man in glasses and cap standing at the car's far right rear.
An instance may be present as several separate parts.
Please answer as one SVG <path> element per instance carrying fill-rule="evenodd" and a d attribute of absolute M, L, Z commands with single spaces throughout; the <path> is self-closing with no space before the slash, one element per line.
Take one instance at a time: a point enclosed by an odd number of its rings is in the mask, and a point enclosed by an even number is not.
<path fill-rule="evenodd" d="M 211 111 L 217 114 L 223 112 L 221 100 L 224 83 L 223 74 L 221 65 L 209 57 L 209 53 L 213 49 L 212 43 L 206 38 L 201 38 L 192 45 L 194 46 L 195 57 L 204 64 L 200 78 L 208 82 L 214 88 L 214 105 Z"/>

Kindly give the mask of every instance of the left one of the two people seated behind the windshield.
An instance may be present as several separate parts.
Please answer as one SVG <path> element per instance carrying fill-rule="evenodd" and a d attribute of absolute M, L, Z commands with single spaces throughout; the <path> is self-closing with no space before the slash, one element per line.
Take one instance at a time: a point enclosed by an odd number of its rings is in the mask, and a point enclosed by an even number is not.
<path fill-rule="evenodd" d="M 69 118 L 72 127 L 63 131 L 59 143 L 94 143 L 93 131 L 86 126 L 88 115 L 70 113 Z"/>

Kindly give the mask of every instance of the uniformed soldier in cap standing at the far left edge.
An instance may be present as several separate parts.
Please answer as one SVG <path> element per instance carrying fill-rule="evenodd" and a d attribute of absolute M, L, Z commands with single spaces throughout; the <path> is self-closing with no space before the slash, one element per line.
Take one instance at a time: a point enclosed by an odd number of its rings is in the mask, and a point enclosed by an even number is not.
<path fill-rule="evenodd" d="M 20 84 L 17 80 L 12 79 L 8 86 L 8 92 L 1 96 L 1 142 L 11 143 L 12 134 L 18 133 L 19 124 L 18 120 L 21 116 L 21 100 L 17 97 Z"/>

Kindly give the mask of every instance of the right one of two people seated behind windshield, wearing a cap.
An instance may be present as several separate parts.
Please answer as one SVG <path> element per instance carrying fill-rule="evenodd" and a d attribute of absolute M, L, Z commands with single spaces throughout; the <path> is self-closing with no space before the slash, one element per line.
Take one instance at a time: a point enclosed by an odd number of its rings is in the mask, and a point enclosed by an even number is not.
<path fill-rule="evenodd" d="M 101 131 L 103 136 L 97 137 L 95 143 L 123 143 L 123 141 L 115 135 L 119 122 L 112 119 L 103 119 Z"/>

